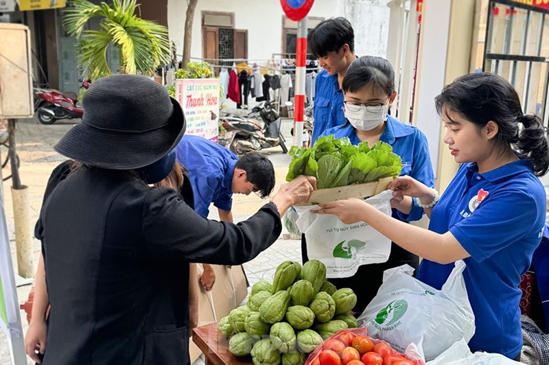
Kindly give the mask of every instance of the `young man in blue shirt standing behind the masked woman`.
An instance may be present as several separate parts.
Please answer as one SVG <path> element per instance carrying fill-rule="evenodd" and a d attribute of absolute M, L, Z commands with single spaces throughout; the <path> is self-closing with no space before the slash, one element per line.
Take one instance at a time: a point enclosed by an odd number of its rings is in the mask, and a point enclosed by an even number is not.
<path fill-rule="evenodd" d="M 346 123 L 341 83 L 349 64 L 356 59 L 355 34 L 347 19 L 327 19 L 307 36 L 309 51 L 323 71 L 315 79 L 311 145 L 329 128 Z"/>

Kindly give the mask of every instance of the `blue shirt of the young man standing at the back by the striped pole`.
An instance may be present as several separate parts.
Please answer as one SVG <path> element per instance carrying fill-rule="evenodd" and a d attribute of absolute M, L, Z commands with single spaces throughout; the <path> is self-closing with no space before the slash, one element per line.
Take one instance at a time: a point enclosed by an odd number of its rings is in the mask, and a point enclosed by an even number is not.
<path fill-rule="evenodd" d="M 343 92 L 338 83 L 338 75 L 320 71 L 314 81 L 314 125 L 311 145 L 325 130 L 347 123 L 343 113 Z"/>

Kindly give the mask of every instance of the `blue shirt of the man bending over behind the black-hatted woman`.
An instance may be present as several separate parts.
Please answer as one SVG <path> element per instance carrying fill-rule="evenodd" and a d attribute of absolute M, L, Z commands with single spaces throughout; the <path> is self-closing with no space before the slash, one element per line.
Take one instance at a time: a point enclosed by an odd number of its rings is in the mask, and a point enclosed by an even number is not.
<path fill-rule="evenodd" d="M 207 217 L 212 202 L 223 211 L 231 211 L 231 182 L 238 157 L 218 143 L 190 135 L 183 136 L 176 155 L 189 170 L 196 213 Z"/>

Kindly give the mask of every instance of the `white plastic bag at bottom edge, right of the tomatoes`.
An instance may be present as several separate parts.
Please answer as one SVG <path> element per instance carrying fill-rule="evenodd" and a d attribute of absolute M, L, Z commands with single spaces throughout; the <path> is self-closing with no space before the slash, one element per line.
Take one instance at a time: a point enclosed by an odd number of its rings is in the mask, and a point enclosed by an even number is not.
<path fill-rule="evenodd" d="M 498 353 L 471 353 L 463 338 L 427 365 L 515 365 L 522 364 Z"/>

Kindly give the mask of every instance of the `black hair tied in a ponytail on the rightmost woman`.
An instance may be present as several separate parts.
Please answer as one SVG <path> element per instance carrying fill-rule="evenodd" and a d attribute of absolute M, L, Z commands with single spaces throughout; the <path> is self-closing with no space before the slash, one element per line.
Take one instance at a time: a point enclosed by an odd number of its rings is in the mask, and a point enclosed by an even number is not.
<path fill-rule="evenodd" d="M 536 176 L 548 172 L 549 145 L 541 119 L 522 113 L 517 91 L 501 76 L 493 73 L 461 76 L 445 86 L 434 102 L 439 115 L 447 108 L 478 128 L 489 121 L 498 123 L 496 143 L 511 146 L 519 158 L 530 161 Z M 524 128 L 519 128 L 519 124 Z"/>

